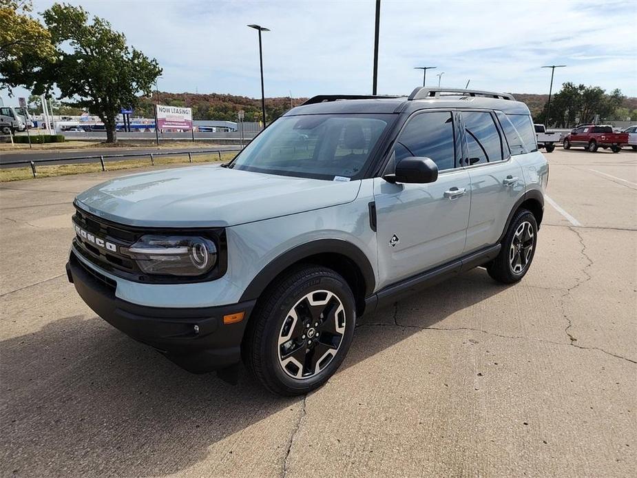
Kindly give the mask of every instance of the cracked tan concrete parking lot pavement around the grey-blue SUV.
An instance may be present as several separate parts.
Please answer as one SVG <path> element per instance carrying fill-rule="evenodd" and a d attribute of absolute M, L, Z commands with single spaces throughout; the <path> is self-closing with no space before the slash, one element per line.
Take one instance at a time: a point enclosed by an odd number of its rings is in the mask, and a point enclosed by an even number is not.
<path fill-rule="evenodd" d="M 475 269 L 363 318 L 293 399 L 182 371 L 80 300 L 72 199 L 124 172 L 2 183 L 0 475 L 634 476 L 637 153 L 546 156 L 521 283 Z"/>

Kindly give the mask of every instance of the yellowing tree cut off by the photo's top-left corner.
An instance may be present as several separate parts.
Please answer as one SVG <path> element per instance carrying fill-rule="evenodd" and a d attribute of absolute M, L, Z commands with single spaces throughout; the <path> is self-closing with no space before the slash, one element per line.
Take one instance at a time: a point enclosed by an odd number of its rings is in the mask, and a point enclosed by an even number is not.
<path fill-rule="evenodd" d="M 51 35 L 29 16 L 29 0 L 0 0 L 0 86 L 32 87 L 34 73 L 54 60 Z"/>

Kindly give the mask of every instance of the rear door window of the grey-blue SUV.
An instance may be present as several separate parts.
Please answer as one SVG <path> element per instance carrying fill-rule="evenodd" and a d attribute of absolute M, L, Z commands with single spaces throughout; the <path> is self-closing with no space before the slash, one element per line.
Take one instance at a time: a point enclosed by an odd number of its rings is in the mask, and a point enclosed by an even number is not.
<path fill-rule="evenodd" d="M 502 140 L 493 116 L 487 112 L 462 112 L 469 157 L 463 166 L 502 160 Z"/>

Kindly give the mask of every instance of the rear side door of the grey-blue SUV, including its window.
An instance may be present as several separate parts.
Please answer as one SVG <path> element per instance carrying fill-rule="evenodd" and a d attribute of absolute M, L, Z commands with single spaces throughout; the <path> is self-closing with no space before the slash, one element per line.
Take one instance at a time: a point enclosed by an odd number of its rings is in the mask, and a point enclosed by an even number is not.
<path fill-rule="evenodd" d="M 508 121 L 505 115 L 503 121 Z M 534 136 L 530 116 L 528 133 Z M 468 171 L 471 188 L 471 212 L 467 227 L 465 253 L 477 251 L 498 242 L 511 209 L 524 193 L 522 168 L 510 153 L 503 131 L 494 113 L 461 112 L 463 132 L 462 165 Z M 512 123 L 507 126 L 516 132 Z M 516 135 L 516 152 L 527 148 Z M 534 138 L 533 138 L 534 142 Z"/>

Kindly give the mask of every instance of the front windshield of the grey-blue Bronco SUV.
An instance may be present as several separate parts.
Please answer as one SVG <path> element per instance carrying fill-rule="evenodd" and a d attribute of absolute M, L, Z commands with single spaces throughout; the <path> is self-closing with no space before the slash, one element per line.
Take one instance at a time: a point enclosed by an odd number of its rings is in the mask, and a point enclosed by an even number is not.
<path fill-rule="evenodd" d="M 362 177 L 390 114 L 284 116 L 245 147 L 230 167 L 327 180 Z"/>

